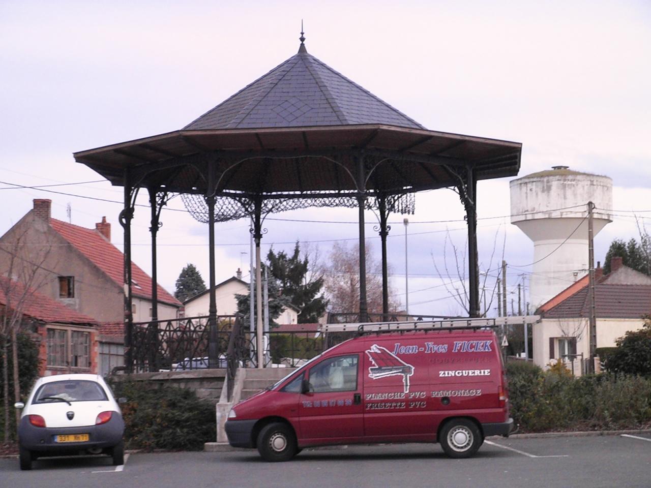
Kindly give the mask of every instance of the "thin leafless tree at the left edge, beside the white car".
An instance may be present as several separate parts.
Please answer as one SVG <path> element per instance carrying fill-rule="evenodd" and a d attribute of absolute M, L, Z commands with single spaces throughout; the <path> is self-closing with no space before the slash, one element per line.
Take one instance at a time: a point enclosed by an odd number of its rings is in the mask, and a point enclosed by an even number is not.
<path fill-rule="evenodd" d="M 10 342 L 13 362 L 14 399 L 20 401 L 20 375 L 18 368 L 18 332 L 23 323 L 27 306 L 31 304 L 36 288 L 52 279 L 51 273 L 43 273 L 44 262 L 51 246 L 31 246 L 27 241 L 29 227 L 19 228 L 7 241 L 0 243 L 3 256 L 3 269 L 0 269 L 0 298 L 4 306 L 0 313 L 0 336 L 3 344 L 0 354 L 3 362 L 3 407 L 5 411 L 5 442 L 9 439 L 9 382 L 8 382 L 8 343 Z M 16 411 L 16 425 L 20 413 Z"/>

